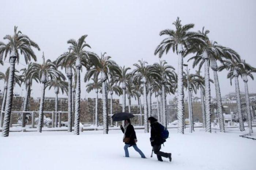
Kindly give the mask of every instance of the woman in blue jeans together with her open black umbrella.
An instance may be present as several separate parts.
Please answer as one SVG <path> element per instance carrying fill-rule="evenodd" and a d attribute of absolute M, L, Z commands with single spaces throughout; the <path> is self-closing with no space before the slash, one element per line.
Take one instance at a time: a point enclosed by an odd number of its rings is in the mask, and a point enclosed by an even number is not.
<path fill-rule="evenodd" d="M 135 151 L 139 152 L 140 156 L 142 158 L 146 158 L 143 152 L 137 147 L 137 137 L 135 130 L 133 128 L 133 125 L 131 125 L 131 120 L 130 118 L 134 117 L 131 113 L 116 113 L 112 116 L 113 121 L 123 121 L 124 120 L 124 127 L 123 125 L 120 125 L 120 128 L 122 132 L 124 133 L 123 137 L 123 142 L 125 143 L 124 145 L 124 152 L 125 152 L 125 157 L 129 157 L 129 151 L 128 147 L 133 147 Z"/>

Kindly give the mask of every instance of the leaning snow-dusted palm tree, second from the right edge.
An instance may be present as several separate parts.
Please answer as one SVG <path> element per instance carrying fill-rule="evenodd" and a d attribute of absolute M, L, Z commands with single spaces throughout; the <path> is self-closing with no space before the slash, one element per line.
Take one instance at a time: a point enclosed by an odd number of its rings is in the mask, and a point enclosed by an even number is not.
<path fill-rule="evenodd" d="M 236 85 L 236 99 L 237 99 L 237 115 L 239 121 L 240 131 L 244 131 L 244 122 L 242 118 L 242 108 L 241 108 L 241 97 L 240 97 L 240 88 L 238 82 L 239 71 L 242 68 L 242 63 L 240 56 L 237 53 L 230 53 L 233 55 L 233 58 L 223 60 L 223 65 L 219 66 L 218 70 L 222 71 L 223 69 L 229 70 L 227 78 L 230 78 L 230 84 L 232 85 L 232 79 L 235 79 Z"/>

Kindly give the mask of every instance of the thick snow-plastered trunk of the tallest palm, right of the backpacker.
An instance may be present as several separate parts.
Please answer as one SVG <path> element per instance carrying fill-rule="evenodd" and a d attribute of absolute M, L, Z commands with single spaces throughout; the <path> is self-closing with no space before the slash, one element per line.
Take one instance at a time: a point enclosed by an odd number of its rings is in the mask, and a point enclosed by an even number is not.
<path fill-rule="evenodd" d="M 181 45 L 179 45 L 181 46 Z M 179 47 L 181 48 L 181 47 Z M 180 49 L 181 50 L 181 49 Z M 183 56 L 179 51 L 178 58 L 178 133 L 184 134 L 184 89 L 183 89 Z"/>

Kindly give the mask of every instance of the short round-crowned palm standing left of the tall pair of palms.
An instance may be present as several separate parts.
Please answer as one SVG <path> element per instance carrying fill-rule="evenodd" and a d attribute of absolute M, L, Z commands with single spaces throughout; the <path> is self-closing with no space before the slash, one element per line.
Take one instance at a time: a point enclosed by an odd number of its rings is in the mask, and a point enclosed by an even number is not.
<path fill-rule="evenodd" d="M 62 94 L 65 92 L 66 94 L 68 93 L 68 82 L 64 81 L 65 78 L 62 80 L 61 77 L 53 77 L 51 80 L 48 80 L 46 82 L 46 87 L 49 86 L 49 90 L 53 87 L 54 88 L 54 93 L 55 93 L 55 112 L 59 111 L 59 106 L 58 106 L 58 94 L 61 90 Z M 61 113 L 55 113 L 55 127 L 58 127 L 58 120 L 59 120 L 59 127 L 61 127 Z M 54 120 L 52 120 L 54 121 Z"/>

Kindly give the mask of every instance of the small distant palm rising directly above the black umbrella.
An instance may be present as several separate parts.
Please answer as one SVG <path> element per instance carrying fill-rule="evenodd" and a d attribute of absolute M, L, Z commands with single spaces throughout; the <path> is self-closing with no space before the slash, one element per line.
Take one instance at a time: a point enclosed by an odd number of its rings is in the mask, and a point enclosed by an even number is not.
<path fill-rule="evenodd" d="M 123 67 L 118 67 L 118 79 L 119 79 L 119 85 L 121 85 L 121 88 L 123 89 L 123 104 L 122 104 L 122 112 L 125 112 L 125 105 L 126 105 L 126 102 L 125 102 L 125 99 L 126 99 L 126 89 L 127 89 L 127 85 L 128 85 L 128 81 L 129 81 L 129 77 L 131 77 L 128 72 L 128 70 L 130 70 L 131 68 L 130 67 L 127 67 L 125 68 L 125 66 Z M 131 112 L 131 111 L 129 111 Z"/>

